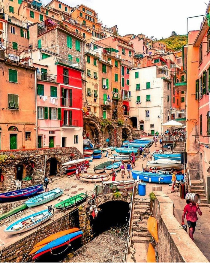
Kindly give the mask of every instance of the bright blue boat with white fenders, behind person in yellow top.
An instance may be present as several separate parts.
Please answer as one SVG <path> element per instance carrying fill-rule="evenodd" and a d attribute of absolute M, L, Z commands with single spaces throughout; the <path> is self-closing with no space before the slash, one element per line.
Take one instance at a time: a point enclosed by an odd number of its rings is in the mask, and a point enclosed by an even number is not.
<path fill-rule="evenodd" d="M 142 171 L 133 171 L 131 170 L 132 177 L 134 180 L 137 180 L 139 177 L 143 182 L 149 183 L 171 183 L 172 175 L 170 174 L 155 174 L 155 173 L 147 173 Z M 176 175 L 176 180 L 183 181 L 183 175 Z"/>

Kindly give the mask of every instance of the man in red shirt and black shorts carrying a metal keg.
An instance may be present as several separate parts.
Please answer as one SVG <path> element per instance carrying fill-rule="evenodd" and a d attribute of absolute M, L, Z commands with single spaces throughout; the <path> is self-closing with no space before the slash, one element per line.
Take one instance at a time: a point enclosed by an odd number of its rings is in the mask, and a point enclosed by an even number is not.
<path fill-rule="evenodd" d="M 194 204 L 190 200 L 187 200 L 186 202 L 187 204 L 184 207 L 184 212 L 182 215 L 182 225 L 184 225 L 184 218 L 186 215 L 187 225 L 190 231 L 189 236 L 194 241 L 193 234 L 195 232 L 196 221 L 198 220 L 197 212 L 200 216 L 202 216 L 202 212 L 198 204 Z"/>

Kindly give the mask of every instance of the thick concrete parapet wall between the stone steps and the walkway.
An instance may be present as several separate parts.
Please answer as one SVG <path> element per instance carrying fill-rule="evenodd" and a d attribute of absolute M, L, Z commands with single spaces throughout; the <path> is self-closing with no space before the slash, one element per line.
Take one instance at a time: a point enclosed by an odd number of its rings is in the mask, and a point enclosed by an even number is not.
<path fill-rule="evenodd" d="M 160 262 L 208 262 L 174 217 L 173 201 L 164 192 L 153 191 L 153 216 L 158 220 L 157 246 Z M 189 231 L 189 230 L 188 230 Z"/>

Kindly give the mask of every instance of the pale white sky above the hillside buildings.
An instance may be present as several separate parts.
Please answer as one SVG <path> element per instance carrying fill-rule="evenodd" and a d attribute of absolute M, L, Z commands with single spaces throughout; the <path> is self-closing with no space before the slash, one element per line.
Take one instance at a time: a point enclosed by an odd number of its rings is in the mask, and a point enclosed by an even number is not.
<path fill-rule="evenodd" d="M 167 38 L 175 31 L 187 32 L 187 17 L 205 14 L 209 0 L 60 0 L 75 7 L 86 5 L 98 13 L 103 26 L 118 26 L 120 35 L 145 34 L 148 37 Z M 46 5 L 50 0 L 41 0 Z M 188 31 L 199 30 L 203 17 L 188 18 Z"/>

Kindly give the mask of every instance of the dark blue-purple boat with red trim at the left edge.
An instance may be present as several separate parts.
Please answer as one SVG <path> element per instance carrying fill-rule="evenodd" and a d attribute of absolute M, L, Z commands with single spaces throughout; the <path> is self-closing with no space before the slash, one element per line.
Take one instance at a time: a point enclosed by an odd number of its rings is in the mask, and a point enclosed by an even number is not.
<path fill-rule="evenodd" d="M 0 202 L 11 202 L 11 201 L 24 199 L 42 191 L 44 191 L 43 184 L 39 184 L 18 190 L 13 190 L 6 193 L 1 193 Z"/>

